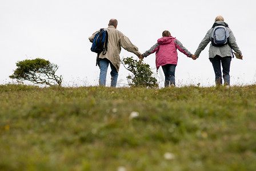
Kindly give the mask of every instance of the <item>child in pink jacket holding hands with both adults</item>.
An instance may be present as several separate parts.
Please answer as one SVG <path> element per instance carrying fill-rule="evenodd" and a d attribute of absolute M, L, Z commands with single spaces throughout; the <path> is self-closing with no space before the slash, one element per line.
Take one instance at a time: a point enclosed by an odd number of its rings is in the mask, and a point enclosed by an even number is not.
<path fill-rule="evenodd" d="M 150 54 L 155 53 L 155 65 L 157 71 L 162 66 L 163 73 L 165 74 L 165 87 L 175 87 L 175 68 L 178 63 L 178 52 L 181 51 L 187 57 L 197 59 L 195 55 L 191 54 L 179 40 L 171 36 L 170 32 L 165 30 L 162 33 L 162 38 L 157 40 L 149 50 L 139 56 L 139 59 L 143 59 Z"/>

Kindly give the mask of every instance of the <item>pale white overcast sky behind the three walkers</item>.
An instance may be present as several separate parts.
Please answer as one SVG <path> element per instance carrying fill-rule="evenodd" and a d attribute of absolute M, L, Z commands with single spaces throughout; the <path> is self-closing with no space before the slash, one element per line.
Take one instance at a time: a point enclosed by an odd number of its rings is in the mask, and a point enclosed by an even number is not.
<path fill-rule="evenodd" d="M 96 2 L 98 4 L 96 4 Z M 59 66 L 65 86 L 95 86 L 99 68 L 90 51 L 88 37 L 118 20 L 118 30 L 128 36 L 141 53 L 169 30 L 191 53 L 217 15 L 222 15 L 234 32 L 243 60 L 231 62 L 231 86 L 256 83 L 255 0 L 181 1 L 82 1 L 82 0 L 0 0 L 0 84 L 11 82 L 15 63 L 43 58 Z M 208 59 L 209 45 L 197 60 L 178 52 L 176 84 L 214 86 L 215 75 Z M 122 49 L 121 58 L 134 56 Z M 145 58 L 155 73 L 155 54 Z M 110 72 L 110 67 L 109 67 Z M 107 86 L 110 85 L 110 74 Z M 129 74 L 121 64 L 118 87 L 127 84 Z M 155 75 L 163 86 L 163 72 Z"/>

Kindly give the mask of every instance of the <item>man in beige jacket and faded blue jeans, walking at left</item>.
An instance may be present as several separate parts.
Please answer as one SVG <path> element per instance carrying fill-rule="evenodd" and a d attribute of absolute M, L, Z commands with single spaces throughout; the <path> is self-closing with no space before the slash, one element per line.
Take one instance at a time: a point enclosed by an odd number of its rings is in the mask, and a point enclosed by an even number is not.
<path fill-rule="evenodd" d="M 106 54 L 103 55 L 103 52 L 101 52 L 98 56 L 98 65 L 101 70 L 99 74 L 100 86 L 106 86 L 107 68 L 109 67 L 109 64 L 111 68 L 111 87 L 117 86 L 118 71 L 121 61 L 119 56 L 121 47 L 129 52 L 133 52 L 137 56 L 141 55 L 141 53 L 138 51 L 138 47 L 131 43 L 130 39 L 127 38 L 121 31 L 117 30 L 117 24 L 117 19 L 110 19 L 109 27 L 104 28 L 104 30 L 106 30 L 108 33 L 108 43 Z M 95 32 L 89 37 L 90 42 L 93 42 L 93 39 L 98 32 L 99 31 Z"/>

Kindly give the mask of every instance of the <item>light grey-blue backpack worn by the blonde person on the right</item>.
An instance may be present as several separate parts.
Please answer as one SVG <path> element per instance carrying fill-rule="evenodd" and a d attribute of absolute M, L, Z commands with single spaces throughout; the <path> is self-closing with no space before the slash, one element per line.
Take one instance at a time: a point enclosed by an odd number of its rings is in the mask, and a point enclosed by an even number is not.
<path fill-rule="evenodd" d="M 225 26 L 215 26 L 211 32 L 211 44 L 213 46 L 224 46 L 229 43 L 229 31 Z"/>

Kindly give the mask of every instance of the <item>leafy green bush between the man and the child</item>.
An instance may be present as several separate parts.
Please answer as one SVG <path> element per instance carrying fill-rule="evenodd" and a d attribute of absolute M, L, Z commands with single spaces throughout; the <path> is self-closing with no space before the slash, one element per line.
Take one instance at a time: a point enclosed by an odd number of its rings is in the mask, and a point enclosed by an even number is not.
<path fill-rule="evenodd" d="M 158 88 L 157 79 L 151 76 L 153 72 L 149 64 L 145 64 L 143 60 L 134 60 L 133 57 L 123 59 L 123 63 L 127 64 L 128 67 L 125 68 L 133 73 L 126 77 L 130 87 Z"/>

